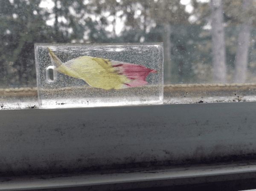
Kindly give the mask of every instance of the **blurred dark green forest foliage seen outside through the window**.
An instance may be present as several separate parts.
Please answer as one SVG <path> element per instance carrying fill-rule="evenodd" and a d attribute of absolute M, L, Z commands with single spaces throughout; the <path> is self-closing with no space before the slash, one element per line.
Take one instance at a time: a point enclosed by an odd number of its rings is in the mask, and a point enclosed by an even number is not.
<path fill-rule="evenodd" d="M 39 7 L 41 0 L 0 0 L 0 87 L 36 86 L 34 43 L 163 42 L 165 23 L 170 23 L 172 30 L 172 83 L 210 83 L 213 79 L 212 38 L 210 30 L 203 29 L 210 19 L 209 3 L 192 0 L 194 10 L 189 14 L 180 0 L 53 1 L 54 8 L 47 11 Z M 235 67 L 236 26 L 255 14 L 254 4 L 241 13 L 241 3 L 223 0 L 228 75 Z M 105 29 L 110 23 L 115 27 L 116 15 L 125 18 L 121 35 L 115 34 L 115 28 L 112 32 Z M 189 23 L 191 15 L 196 20 Z M 50 19 L 55 19 L 53 25 L 47 25 Z M 253 29 L 251 76 L 256 71 L 255 34 Z"/>

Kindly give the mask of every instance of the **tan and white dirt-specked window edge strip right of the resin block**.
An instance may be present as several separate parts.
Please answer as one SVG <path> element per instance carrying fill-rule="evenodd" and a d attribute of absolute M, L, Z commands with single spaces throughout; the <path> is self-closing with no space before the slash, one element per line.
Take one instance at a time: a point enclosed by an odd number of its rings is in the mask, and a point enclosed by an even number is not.
<path fill-rule="evenodd" d="M 163 95 L 163 104 L 256 101 L 256 84 L 165 85 Z"/>

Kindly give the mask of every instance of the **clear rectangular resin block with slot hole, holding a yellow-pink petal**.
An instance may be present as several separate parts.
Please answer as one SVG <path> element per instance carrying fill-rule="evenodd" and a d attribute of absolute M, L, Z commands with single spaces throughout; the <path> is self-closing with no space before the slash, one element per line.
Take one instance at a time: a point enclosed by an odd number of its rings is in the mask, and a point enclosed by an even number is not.
<path fill-rule="evenodd" d="M 41 108 L 163 103 L 163 43 L 35 44 Z"/>

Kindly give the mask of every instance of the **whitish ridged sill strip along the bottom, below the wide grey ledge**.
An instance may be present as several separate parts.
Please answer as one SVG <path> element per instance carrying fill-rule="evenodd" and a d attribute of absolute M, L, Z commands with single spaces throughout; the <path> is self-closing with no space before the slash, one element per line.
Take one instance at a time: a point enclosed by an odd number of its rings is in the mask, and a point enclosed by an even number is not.
<path fill-rule="evenodd" d="M 0 191 L 40 190 L 125 190 L 140 188 L 200 188 L 215 184 L 216 190 L 227 188 L 237 190 L 253 188 L 246 185 L 248 179 L 256 176 L 255 163 L 239 163 L 215 166 L 197 166 L 135 172 L 108 172 L 108 174 L 54 174 L 0 178 Z M 244 182 L 244 185 L 243 185 Z M 206 186 L 207 187 L 207 186 Z M 217 189 L 218 188 L 218 189 Z M 235 188 L 235 189 L 234 189 Z M 225 189 L 226 190 L 226 189 Z"/>

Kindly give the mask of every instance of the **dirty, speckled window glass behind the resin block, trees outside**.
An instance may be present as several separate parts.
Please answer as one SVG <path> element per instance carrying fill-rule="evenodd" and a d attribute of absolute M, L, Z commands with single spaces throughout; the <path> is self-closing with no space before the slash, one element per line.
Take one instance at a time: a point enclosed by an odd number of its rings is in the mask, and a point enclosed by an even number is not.
<path fill-rule="evenodd" d="M 38 107 L 35 43 L 164 43 L 165 104 L 255 101 L 255 0 L 0 0 L 0 109 Z"/>

